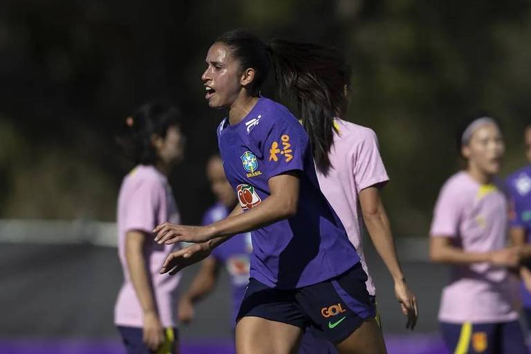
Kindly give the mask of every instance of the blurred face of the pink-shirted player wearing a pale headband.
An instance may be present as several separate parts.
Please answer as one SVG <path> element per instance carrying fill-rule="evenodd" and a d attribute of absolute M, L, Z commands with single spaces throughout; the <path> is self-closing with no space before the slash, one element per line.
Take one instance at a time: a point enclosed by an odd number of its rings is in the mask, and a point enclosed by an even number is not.
<path fill-rule="evenodd" d="M 486 175 L 500 171 L 505 145 L 501 132 L 495 124 L 478 127 L 468 145 L 463 147 L 463 155 L 468 159 L 469 167 L 474 167 Z"/>

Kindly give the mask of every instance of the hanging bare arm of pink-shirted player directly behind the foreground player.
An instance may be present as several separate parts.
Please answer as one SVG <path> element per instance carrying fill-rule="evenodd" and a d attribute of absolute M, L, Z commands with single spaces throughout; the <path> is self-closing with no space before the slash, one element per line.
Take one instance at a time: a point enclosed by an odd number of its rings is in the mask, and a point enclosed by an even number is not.
<path fill-rule="evenodd" d="M 371 241 L 373 241 L 378 254 L 380 254 L 395 282 L 395 296 L 400 303 L 402 313 L 407 316 L 406 328 L 414 329 L 418 318 L 417 299 L 407 286 L 404 273 L 398 262 L 391 225 L 382 204 L 378 187 L 363 189 L 359 197 Z"/>

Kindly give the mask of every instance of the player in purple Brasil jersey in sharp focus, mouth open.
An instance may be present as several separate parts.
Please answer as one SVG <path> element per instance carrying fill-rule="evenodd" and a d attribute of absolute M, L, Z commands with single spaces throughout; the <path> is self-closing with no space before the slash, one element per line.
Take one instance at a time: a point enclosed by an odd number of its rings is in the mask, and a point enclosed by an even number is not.
<path fill-rule="evenodd" d="M 283 57 L 288 53 L 282 48 L 291 45 L 313 55 L 317 68 L 337 70 L 325 50 L 278 40 L 265 46 L 240 30 L 225 33 L 209 48 L 205 98 L 210 107 L 228 111 L 218 142 L 240 205 L 211 225 L 156 227 L 160 243 L 197 242 L 172 253 L 161 272 L 176 272 L 232 234 L 252 230 L 251 278 L 236 325 L 238 353 L 292 353 L 309 326 L 340 353 L 384 353 L 359 256 L 319 190 L 315 136 L 308 138 L 284 106 L 259 95 L 270 55 L 277 76 L 284 65 L 297 64 L 302 64 L 297 72 L 310 73 L 310 80 L 324 75 L 305 67 L 303 58 Z M 315 104 L 326 99 L 316 94 L 299 97 Z"/>

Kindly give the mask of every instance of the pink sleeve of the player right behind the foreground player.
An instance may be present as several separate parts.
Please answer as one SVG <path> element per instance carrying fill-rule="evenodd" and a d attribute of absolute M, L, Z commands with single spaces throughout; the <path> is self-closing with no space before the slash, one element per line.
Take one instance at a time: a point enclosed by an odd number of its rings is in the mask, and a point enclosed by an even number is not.
<path fill-rule="evenodd" d="M 357 146 L 354 161 L 354 179 L 357 193 L 363 189 L 389 180 L 378 149 L 378 138 L 371 129 Z"/>

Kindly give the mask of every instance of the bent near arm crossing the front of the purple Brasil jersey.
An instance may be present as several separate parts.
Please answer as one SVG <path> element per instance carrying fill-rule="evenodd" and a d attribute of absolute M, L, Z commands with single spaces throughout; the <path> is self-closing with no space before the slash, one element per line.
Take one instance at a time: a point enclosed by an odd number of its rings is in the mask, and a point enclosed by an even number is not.
<path fill-rule="evenodd" d="M 231 213 L 227 218 L 206 226 L 174 225 L 162 223 L 153 232 L 158 243 L 210 242 L 211 248 L 229 239 L 234 234 L 257 230 L 276 221 L 297 214 L 299 207 L 299 176 L 288 171 L 268 180 L 270 196 L 248 212 Z M 240 208 L 241 210 L 241 208 Z M 214 243 L 214 239 L 217 239 Z"/>

